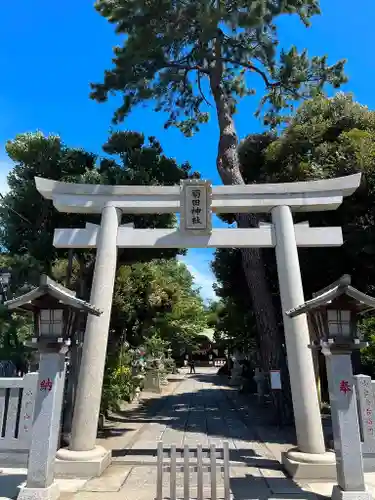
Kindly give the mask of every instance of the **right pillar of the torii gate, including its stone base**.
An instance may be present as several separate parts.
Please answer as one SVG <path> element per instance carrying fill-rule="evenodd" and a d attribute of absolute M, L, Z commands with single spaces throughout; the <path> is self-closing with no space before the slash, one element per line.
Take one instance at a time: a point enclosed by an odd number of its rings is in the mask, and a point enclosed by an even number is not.
<path fill-rule="evenodd" d="M 305 314 L 294 318 L 285 315 L 285 311 L 305 301 L 290 207 L 273 208 L 272 222 L 298 443 L 298 449 L 283 455 L 283 465 L 294 478 L 331 479 L 336 470 L 335 455 L 325 450 L 314 363 L 307 348 L 310 344 L 307 318 Z"/>

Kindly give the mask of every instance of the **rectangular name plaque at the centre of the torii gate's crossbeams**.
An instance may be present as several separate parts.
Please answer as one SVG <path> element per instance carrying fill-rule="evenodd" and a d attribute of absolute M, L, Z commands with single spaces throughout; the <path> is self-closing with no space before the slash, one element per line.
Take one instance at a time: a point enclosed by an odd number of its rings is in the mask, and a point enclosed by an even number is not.
<path fill-rule="evenodd" d="M 209 234 L 211 225 L 211 183 L 199 179 L 181 181 L 180 230 Z"/>

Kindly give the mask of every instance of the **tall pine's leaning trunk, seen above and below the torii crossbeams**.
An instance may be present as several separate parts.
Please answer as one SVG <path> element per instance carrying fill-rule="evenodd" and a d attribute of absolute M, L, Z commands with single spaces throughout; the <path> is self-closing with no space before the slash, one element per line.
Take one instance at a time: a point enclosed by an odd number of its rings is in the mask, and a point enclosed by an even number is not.
<path fill-rule="evenodd" d="M 232 118 L 230 99 L 222 85 L 223 66 L 220 59 L 220 40 L 215 49 L 215 63 L 210 71 L 210 87 L 215 100 L 220 139 L 217 153 L 217 169 L 226 185 L 245 184 L 238 157 L 238 137 Z M 237 214 L 237 225 L 241 228 L 258 227 L 260 218 L 253 214 Z M 277 314 L 267 283 L 262 250 L 241 249 L 243 269 L 254 308 L 261 351 L 261 367 L 268 373 L 271 369 L 282 372 L 284 383 L 284 404 L 291 410 L 289 375 L 283 335 L 277 323 Z"/>

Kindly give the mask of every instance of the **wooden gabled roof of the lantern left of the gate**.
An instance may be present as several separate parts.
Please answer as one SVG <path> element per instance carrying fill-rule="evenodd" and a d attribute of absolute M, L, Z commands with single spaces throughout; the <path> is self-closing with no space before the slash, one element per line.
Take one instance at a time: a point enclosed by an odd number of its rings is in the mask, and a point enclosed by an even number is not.
<path fill-rule="evenodd" d="M 95 306 L 82 299 L 78 299 L 75 296 L 75 292 L 60 285 L 45 274 L 42 274 L 38 288 L 34 288 L 30 292 L 12 300 L 8 300 L 4 303 L 4 306 L 11 310 L 25 309 L 35 311 L 35 309 L 43 308 L 43 305 L 45 308 L 45 305 L 51 302 L 59 304 L 62 308 L 64 306 L 71 307 L 89 314 L 94 314 L 95 316 L 100 316 L 102 314 L 102 311 Z M 56 305 L 53 308 L 56 309 Z"/>

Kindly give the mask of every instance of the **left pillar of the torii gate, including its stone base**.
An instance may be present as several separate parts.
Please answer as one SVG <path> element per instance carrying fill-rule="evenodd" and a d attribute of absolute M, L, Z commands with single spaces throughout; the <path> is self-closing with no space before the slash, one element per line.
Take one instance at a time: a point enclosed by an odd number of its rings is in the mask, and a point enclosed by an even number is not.
<path fill-rule="evenodd" d="M 117 265 L 117 230 L 121 210 L 108 204 L 102 210 L 90 302 L 103 311 L 89 315 L 75 398 L 72 437 L 57 452 L 57 470 L 78 477 L 99 476 L 111 462 L 111 452 L 96 446 L 100 400 Z"/>

